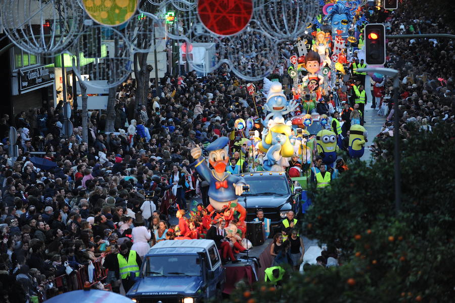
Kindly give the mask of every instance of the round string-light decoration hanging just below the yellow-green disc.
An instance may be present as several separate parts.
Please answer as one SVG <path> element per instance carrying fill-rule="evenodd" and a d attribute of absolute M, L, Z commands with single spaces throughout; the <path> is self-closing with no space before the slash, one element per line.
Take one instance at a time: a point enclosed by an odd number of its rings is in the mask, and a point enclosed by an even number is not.
<path fill-rule="evenodd" d="M 113 88 L 132 71 L 130 47 L 125 37 L 112 27 L 90 26 L 72 49 L 74 71 L 87 86 Z M 84 78 L 81 75 L 88 75 Z"/>

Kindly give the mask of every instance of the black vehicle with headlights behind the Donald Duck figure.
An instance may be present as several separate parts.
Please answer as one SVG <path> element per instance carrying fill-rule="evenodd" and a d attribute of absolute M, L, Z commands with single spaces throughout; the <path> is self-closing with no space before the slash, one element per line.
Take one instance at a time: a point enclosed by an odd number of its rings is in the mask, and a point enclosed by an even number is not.
<path fill-rule="evenodd" d="M 261 208 L 264 217 L 271 220 L 270 235 L 280 229 L 286 213 L 293 210 L 295 218 L 301 213 L 300 192 L 294 193 L 294 186 L 287 172 L 257 171 L 240 175 L 250 190 L 239 197 L 239 203 L 247 210 L 245 221 L 256 218 L 256 210 Z"/>

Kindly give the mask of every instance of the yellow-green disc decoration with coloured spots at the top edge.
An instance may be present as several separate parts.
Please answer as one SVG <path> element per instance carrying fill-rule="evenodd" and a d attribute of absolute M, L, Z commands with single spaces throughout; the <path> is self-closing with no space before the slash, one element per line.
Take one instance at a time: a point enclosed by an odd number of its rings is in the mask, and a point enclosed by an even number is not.
<path fill-rule="evenodd" d="M 138 8 L 138 0 L 82 0 L 88 16 L 106 26 L 128 21 Z"/>

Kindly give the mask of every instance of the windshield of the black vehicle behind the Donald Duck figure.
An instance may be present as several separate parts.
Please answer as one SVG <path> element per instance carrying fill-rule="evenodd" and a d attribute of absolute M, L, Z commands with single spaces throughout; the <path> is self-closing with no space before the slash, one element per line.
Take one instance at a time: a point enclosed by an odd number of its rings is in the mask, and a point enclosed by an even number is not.
<path fill-rule="evenodd" d="M 289 195 L 289 185 L 285 178 L 264 176 L 259 178 L 246 178 L 245 182 L 250 186 L 250 191 L 243 193 L 244 196 L 259 195 Z"/>

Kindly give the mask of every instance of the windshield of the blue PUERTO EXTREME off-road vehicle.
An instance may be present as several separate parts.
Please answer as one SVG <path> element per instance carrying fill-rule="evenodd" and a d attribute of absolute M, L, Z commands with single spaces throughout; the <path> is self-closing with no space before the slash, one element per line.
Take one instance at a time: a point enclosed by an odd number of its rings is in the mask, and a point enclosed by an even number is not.
<path fill-rule="evenodd" d="M 197 255 L 148 256 L 144 267 L 144 276 L 200 276 L 201 264 L 199 260 Z"/>

